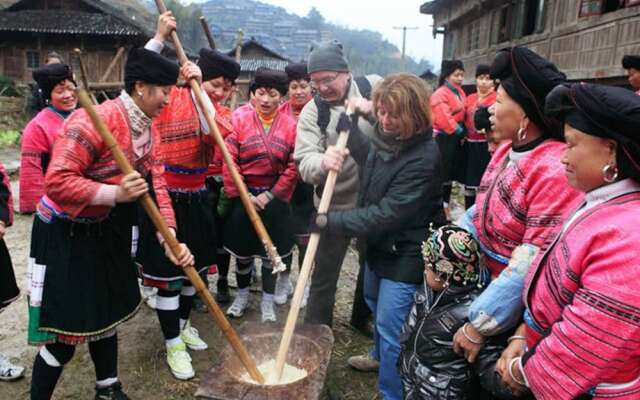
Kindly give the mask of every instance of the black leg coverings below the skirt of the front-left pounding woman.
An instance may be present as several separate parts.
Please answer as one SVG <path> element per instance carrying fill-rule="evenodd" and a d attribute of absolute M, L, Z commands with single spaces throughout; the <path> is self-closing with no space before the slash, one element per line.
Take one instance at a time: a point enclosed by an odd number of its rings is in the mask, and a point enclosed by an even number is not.
<path fill-rule="evenodd" d="M 71 361 L 76 351 L 76 346 L 64 343 L 53 343 L 44 347 L 60 366 L 51 366 L 40 353 L 36 355 L 31 377 L 31 400 L 51 398 L 64 365 Z M 97 381 L 118 377 L 117 335 L 89 342 L 89 354 L 96 370 Z"/>

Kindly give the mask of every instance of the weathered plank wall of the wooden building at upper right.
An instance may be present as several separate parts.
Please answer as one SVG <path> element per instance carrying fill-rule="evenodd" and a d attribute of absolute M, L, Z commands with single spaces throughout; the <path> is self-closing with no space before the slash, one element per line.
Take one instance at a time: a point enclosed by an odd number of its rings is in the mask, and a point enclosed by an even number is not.
<path fill-rule="evenodd" d="M 477 4 L 474 0 L 455 2 L 443 9 L 442 15 L 436 15 L 435 20 L 458 18 Z M 465 83 L 473 83 L 478 63 L 490 63 L 499 49 L 512 45 L 527 46 L 551 59 L 572 80 L 623 77 L 622 56 L 640 54 L 640 6 L 579 18 L 580 0 L 548 0 L 544 32 L 492 45 L 491 37 L 495 35 L 492 31 L 499 29 L 500 7 L 501 4 L 494 4 L 493 8 L 474 12 L 475 16 L 465 16 L 447 28 L 445 52 L 453 40 L 455 57 L 465 63 Z M 480 26 L 477 49 L 469 46 L 473 42 L 469 39 L 473 24 Z"/>

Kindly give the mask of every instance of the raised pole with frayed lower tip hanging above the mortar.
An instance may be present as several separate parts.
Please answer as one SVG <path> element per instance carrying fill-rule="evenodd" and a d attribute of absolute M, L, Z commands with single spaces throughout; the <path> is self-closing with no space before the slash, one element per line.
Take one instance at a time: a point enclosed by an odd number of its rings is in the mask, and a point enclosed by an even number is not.
<path fill-rule="evenodd" d="M 167 7 L 164 5 L 163 0 L 155 0 L 155 2 L 156 6 L 158 7 L 158 11 L 160 11 L 160 14 L 164 14 L 165 12 L 167 12 Z M 184 48 L 180 43 L 178 33 L 175 30 L 171 32 L 171 39 L 173 40 L 173 45 L 176 48 L 176 53 L 178 54 L 180 65 L 184 65 L 188 61 L 187 55 L 184 52 Z M 189 85 L 191 86 L 191 91 L 195 95 L 196 101 L 198 102 L 198 104 L 200 105 L 200 109 L 202 110 L 202 114 L 204 114 L 205 120 L 209 125 L 209 131 L 213 133 L 213 139 L 216 141 L 216 145 L 222 152 L 222 158 L 224 159 L 225 164 L 227 164 L 227 168 L 231 173 L 233 183 L 240 193 L 240 200 L 242 201 L 247 215 L 249 216 L 249 220 L 256 230 L 258 237 L 262 241 L 267 256 L 271 260 L 273 273 L 275 274 L 277 272 L 284 271 L 286 269 L 286 266 L 282 262 L 282 258 L 278 255 L 278 251 L 273 245 L 273 242 L 269 237 L 269 233 L 267 232 L 267 229 L 262 223 L 262 219 L 260 219 L 260 215 L 258 215 L 258 212 L 256 211 L 256 208 L 249 197 L 247 187 L 245 186 L 244 181 L 242 180 L 242 177 L 238 172 L 238 168 L 236 167 L 235 162 L 231 158 L 231 154 L 229 153 L 229 150 L 224 143 L 224 139 L 220 134 L 220 130 L 218 129 L 218 124 L 213 119 L 213 116 L 211 115 L 209 109 L 205 106 L 206 103 L 204 102 L 204 94 L 202 92 L 202 88 L 200 87 L 200 83 L 195 79 L 191 79 L 189 81 Z"/>

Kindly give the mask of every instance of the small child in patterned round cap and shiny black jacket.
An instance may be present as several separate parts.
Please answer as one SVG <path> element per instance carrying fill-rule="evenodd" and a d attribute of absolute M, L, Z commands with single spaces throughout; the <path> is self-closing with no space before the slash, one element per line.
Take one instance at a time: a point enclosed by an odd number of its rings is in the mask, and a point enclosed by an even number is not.
<path fill-rule="evenodd" d="M 424 289 L 415 293 L 400 336 L 398 367 L 405 399 L 471 398 L 474 375 L 495 398 L 515 398 L 495 372 L 502 338 L 485 343 L 474 364 L 453 351 L 453 335 L 465 326 L 469 305 L 482 291 L 478 243 L 466 230 L 446 225 L 432 230 L 422 254 Z"/>

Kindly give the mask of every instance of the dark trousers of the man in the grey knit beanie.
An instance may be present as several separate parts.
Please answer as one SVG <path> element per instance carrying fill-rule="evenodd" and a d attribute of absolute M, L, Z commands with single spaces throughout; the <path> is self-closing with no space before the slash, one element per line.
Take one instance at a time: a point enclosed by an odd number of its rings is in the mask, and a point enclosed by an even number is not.
<path fill-rule="evenodd" d="M 333 325 L 336 287 L 349 242 L 350 238 L 341 235 L 324 234 L 320 237 L 305 323 Z"/>

